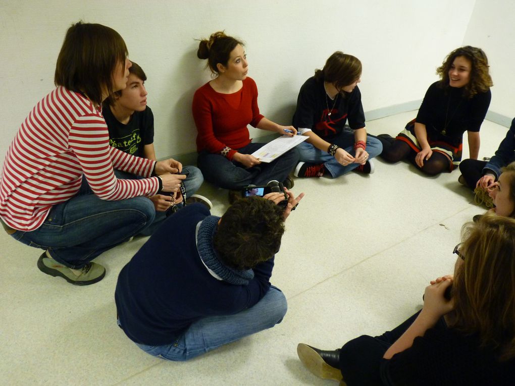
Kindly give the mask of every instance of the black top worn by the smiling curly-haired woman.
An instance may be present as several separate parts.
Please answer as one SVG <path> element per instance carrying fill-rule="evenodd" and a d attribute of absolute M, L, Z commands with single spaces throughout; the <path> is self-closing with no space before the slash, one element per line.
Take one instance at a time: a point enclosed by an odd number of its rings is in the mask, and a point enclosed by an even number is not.
<path fill-rule="evenodd" d="M 490 90 L 468 99 L 463 96 L 463 87 L 441 87 L 440 81 L 427 89 L 420 105 L 416 121 L 424 124 L 428 135 L 451 145 L 461 143 L 466 131 L 479 131 L 485 119 L 492 94 Z"/>

